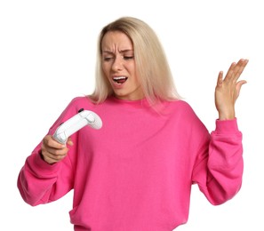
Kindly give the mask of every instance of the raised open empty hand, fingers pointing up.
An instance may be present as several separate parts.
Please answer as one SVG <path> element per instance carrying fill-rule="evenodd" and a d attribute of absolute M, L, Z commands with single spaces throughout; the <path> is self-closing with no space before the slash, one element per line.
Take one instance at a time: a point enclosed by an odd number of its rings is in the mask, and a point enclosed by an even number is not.
<path fill-rule="evenodd" d="M 220 120 L 234 119 L 235 103 L 239 96 L 239 92 L 245 80 L 238 81 L 247 65 L 248 60 L 239 60 L 237 63 L 233 62 L 228 69 L 228 73 L 223 79 L 223 72 L 220 71 L 217 84 L 215 87 L 215 107 L 219 112 Z"/>

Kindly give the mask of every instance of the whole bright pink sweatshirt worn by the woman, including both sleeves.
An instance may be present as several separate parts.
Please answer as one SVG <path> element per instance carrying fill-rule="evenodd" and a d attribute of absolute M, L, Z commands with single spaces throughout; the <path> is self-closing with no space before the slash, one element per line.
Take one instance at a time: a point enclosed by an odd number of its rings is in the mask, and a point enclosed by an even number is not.
<path fill-rule="evenodd" d="M 80 108 L 97 113 L 100 130 L 85 126 L 60 163 L 28 156 L 18 177 L 20 194 L 33 206 L 74 189 L 70 220 L 76 231 L 172 231 L 188 220 L 192 184 L 212 204 L 225 203 L 241 187 L 242 133 L 236 119 L 216 120 L 210 134 L 183 100 L 163 102 L 110 97 L 94 105 L 72 100 L 48 133 Z"/>

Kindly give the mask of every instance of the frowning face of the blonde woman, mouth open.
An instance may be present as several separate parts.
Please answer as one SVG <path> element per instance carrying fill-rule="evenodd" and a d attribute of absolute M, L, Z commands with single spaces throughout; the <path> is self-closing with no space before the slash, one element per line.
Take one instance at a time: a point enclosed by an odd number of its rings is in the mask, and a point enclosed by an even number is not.
<path fill-rule="evenodd" d="M 116 98 L 141 100 L 140 87 L 134 60 L 133 44 L 120 31 L 110 31 L 102 39 L 102 69 L 111 84 Z"/>

